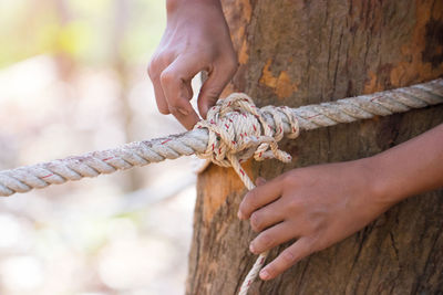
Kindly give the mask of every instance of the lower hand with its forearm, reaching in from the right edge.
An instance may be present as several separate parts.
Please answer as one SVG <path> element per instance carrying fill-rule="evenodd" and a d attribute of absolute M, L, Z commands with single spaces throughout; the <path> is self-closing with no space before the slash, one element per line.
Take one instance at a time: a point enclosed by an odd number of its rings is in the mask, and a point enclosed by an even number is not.
<path fill-rule="evenodd" d="M 258 232 L 255 254 L 297 239 L 260 272 L 271 280 L 361 230 L 401 200 L 443 187 L 443 124 L 377 156 L 257 181 L 238 217 Z"/>

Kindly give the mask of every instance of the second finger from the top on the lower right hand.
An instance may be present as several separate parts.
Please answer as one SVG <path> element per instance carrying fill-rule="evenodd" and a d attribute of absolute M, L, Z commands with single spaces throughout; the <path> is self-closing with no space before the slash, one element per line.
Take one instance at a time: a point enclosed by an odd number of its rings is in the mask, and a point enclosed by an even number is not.
<path fill-rule="evenodd" d="M 285 207 L 281 201 L 277 200 L 250 214 L 250 226 L 255 232 L 279 223 L 285 220 Z"/>

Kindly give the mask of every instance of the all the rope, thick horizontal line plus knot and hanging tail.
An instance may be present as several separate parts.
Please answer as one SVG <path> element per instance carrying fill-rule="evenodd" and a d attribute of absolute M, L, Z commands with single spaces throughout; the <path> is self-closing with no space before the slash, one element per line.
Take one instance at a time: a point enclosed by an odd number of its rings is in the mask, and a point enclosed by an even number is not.
<path fill-rule="evenodd" d="M 240 162 L 251 156 L 256 160 L 276 158 L 284 162 L 290 161 L 290 156 L 278 149 L 277 143 L 284 135 L 296 138 L 300 129 L 310 130 L 374 116 L 388 116 L 441 103 L 443 78 L 299 108 L 257 108 L 247 95 L 236 93 L 219 101 L 209 109 L 208 118 L 199 122 L 190 131 L 0 171 L 0 196 L 27 192 L 193 154 L 224 167 L 231 166 L 246 188 L 251 190 L 255 186 Z M 267 253 L 259 255 L 239 294 L 247 293 L 266 257 Z"/>

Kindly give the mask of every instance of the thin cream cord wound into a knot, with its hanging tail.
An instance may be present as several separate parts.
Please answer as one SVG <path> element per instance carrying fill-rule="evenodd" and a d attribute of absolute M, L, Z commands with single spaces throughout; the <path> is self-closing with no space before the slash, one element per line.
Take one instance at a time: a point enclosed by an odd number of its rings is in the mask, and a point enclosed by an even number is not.
<path fill-rule="evenodd" d="M 274 126 L 265 116 L 274 119 Z M 282 162 L 292 157 L 278 148 L 284 136 L 284 120 L 289 125 L 288 138 L 295 139 L 300 133 L 298 119 L 289 107 L 266 106 L 257 108 L 253 99 L 244 93 L 233 93 L 212 107 L 206 120 L 200 120 L 194 128 L 207 128 L 208 144 L 197 157 L 212 160 L 223 167 L 233 167 L 248 190 L 254 182 L 241 168 L 240 162 L 253 157 L 258 161 L 275 158 Z M 261 253 L 244 280 L 239 294 L 247 294 L 251 283 L 264 266 L 268 252 Z"/>

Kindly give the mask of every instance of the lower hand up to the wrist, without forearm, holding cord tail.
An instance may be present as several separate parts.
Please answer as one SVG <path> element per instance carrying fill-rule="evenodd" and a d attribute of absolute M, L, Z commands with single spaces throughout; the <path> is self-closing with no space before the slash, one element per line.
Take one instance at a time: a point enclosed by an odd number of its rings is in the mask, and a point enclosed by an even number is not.
<path fill-rule="evenodd" d="M 238 212 L 260 232 L 250 251 L 258 254 L 298 239 L 260 272 L 262 280 L 359 231 L 393 204 L 379 198 L 370 161 L 295 169 L 266 183 L 257 181 Z"/>

